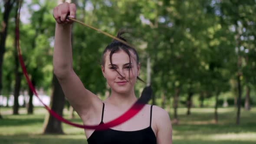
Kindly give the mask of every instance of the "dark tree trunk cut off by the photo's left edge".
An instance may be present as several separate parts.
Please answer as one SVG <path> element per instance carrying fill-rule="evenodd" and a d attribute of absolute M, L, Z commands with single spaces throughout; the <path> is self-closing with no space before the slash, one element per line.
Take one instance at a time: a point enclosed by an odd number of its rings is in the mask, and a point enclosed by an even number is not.
<path fill-rule="evenodd" d="M 4 0 L 4 12 L 3 12 L 3 21 L 1 23 L 1 31 L 0 31 L 0 93 L 2 92 L 3 84 L 2 84 L 2 75 L 3 75 L 3 55 L 5 52 L 5 42 L 7 38 L 7 29 L 8 29 L 8 20 L 10 16 L 10 12 L 13 8 L 13 3 L 16 0 Z M 0 114 L 0 118 L 1 114 Z"/>

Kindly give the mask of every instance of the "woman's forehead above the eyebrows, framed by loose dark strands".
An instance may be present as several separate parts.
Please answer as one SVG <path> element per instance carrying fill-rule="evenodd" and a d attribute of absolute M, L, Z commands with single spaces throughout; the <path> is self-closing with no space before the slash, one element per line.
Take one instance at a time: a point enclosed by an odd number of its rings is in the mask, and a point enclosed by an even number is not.
<path fill-rule="evenodd" d="M 131 63 L 135 63 L 136 62 L 136 56 L 135 54 L 129 50 L 130 55 L 131 55 Z M 106 52 L 106 56 L 105 56 L 105 62 L 110 64 L 110 51 Z M 126 64 L 129 63 L 129 56 L 128 53 L 126 53 L 123 50 L 119 50 L 118 52 L 113 53 L 112 55 L 112 64 Z"/>

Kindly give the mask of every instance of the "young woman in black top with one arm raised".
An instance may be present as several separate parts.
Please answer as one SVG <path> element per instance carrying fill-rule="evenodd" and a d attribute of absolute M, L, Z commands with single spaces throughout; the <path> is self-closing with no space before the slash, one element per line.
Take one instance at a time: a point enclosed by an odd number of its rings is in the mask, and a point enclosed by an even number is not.
<path fill-rule="evenodd" d="M 102 73 L 111 87 L 111 95 L 101 101 L 87 90 L 72 69 L 71 27 L 66 16 L 75 17 L 76 7 L 62 3 L 55 7 L 54 73 L 66 98 L 83 123 L 95 125 L 122 115 L 137 101 L 134 85 L 140 63 L 135 49 L 118 41 L 110 43 L 102 56 Z M 121 38 L 121 33 L 118 33 Z M 89 144 L 171 144 L 172 128 L 168 113 L 158 106 L 145 105 L 135 117 L 104 131 L 85 130 Z"/>

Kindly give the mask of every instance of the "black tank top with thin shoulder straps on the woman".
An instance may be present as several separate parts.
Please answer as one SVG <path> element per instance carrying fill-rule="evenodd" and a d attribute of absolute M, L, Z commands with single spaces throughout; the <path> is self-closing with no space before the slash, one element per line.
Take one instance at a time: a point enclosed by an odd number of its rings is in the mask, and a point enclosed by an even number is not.
<path fill-rule="evenodd" d="M 102 121 L 104 114 L 104 103 L 102 108 Z M 151 128 L 152 106 L 150 108 L 150 125 L 138 131 L 118 131 L 108 128 L 104 131 L 95 130 L 87 139 L 88 144 L 157 144 L 154 131 Z"/>

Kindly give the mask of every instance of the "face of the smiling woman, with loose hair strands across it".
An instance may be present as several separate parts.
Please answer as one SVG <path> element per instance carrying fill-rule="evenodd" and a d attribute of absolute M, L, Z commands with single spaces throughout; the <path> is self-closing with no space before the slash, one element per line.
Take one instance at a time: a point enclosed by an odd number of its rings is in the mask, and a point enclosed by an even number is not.
<path fill-rule="evenodd" d="M 140 64 L 137 65 L 136 56 L 132 51 L 130 51 L 130 54 L 131 63 L 129 63 L 129 56 L 126 52 L 123 50 L 115 52 L 112 55 L 113 65 L 111 65 L 109 59 L 110 52 L 108 51 L 105 53 L 105 65 L 102 66 L 102 73 L 107 79 L 108 85 L 111 87 L 112 91 L 120 94 L 131 92 L 131 90 L 134 89 L 134 85 L 139 74 Z M 119 75 L 116 70 L 122 76 Z"/>

